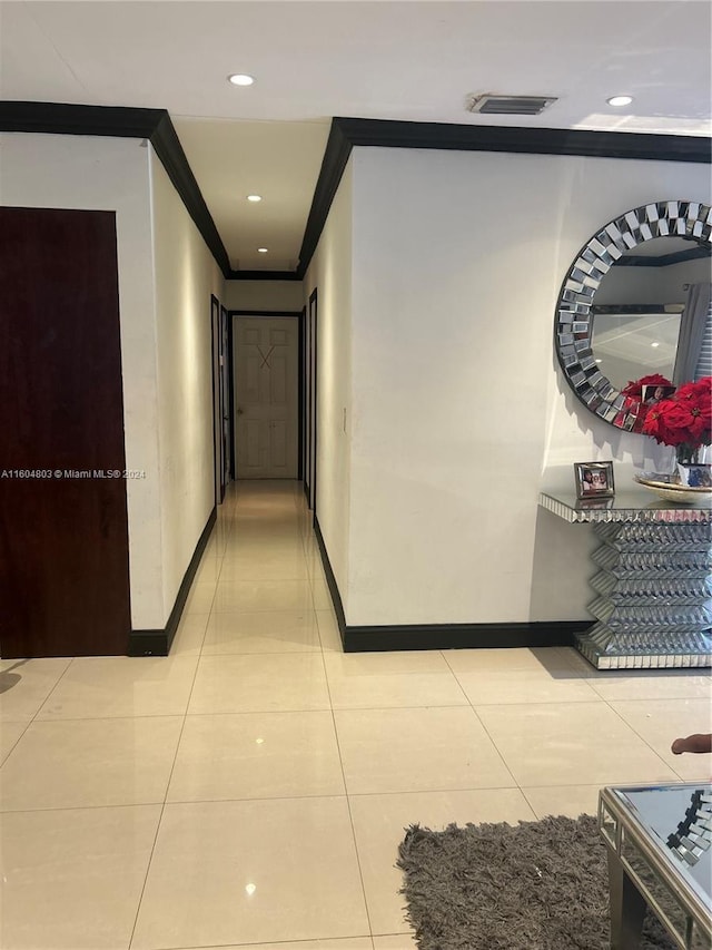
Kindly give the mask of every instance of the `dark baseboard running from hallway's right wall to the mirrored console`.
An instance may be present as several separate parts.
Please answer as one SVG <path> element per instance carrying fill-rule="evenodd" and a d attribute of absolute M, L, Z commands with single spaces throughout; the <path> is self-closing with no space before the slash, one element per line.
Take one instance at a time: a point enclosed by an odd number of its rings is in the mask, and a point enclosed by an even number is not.
<path fill-rule="evenodd" d="M 332 570 L 319 522 L 316 519 L 314 532 L 319 545 L 344 653 L 573 646 L 574 636 L 585 633 L 593 624 L 593 620 L 544 620 L 522 624 L 408 624 L 348 627 L 342 595 Z"/>

